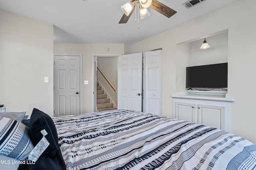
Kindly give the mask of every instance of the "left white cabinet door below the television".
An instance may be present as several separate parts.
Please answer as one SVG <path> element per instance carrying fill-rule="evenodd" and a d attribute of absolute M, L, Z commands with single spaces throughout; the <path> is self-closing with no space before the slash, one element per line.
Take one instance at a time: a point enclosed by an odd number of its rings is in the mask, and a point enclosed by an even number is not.
<path fill-rule="evenodd" d="M 196 107 L 196 104 L 176 102 L 175 118 L 196 123 L 195 107 Z"/>

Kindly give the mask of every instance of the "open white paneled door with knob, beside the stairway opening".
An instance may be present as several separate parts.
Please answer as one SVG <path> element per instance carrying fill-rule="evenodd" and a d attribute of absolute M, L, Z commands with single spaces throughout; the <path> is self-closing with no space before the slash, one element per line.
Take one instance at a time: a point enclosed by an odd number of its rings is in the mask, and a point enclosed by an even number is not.
<path fill-rule="evenodd" d="M 118 57 L 118 109 L 142 111 L 142 53 Z"/>

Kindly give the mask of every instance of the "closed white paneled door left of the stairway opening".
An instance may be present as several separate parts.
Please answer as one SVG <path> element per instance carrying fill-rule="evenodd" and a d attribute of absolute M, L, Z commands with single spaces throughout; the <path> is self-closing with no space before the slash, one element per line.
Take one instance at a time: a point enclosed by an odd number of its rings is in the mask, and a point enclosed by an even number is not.
<path fill-rule="evenodd" d="M 80 55 L 54 55 L 54 116 L 80 114 Z"/>

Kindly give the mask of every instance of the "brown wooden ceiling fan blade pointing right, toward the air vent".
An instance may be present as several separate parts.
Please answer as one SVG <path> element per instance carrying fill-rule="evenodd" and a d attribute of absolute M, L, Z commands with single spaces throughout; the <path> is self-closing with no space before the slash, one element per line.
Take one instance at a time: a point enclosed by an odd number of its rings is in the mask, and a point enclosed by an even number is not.
<path fill-rule="evenodd" d="M 168 18 L 176 14 L 176 11 L 162 4 L 161 2 L 158 2 L 157 0 L 153 0 L 150 8 L 156 10 L 157 12 L 160 12 L 161 14 L 163 14 L 164 16 L 167 16 Z"/>

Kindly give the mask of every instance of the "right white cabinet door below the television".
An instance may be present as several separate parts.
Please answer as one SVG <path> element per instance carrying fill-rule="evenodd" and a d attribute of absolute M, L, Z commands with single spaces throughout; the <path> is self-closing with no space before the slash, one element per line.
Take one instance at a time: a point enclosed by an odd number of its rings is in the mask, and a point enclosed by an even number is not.
<path fill-rule="evenodd" d="M 198 105 L 198 123 L 224 130 L 224 109 L 222 106 Z"/>

